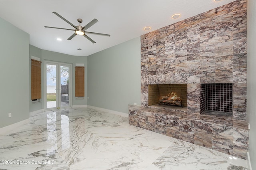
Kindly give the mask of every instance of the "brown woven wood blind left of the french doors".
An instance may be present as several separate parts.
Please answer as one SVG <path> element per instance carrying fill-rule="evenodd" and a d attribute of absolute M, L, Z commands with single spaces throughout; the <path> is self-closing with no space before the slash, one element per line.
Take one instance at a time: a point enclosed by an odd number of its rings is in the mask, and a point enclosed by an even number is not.
<path fill-rule="evenodd" d="M 31 59 L 31 100 L 41 99 L 41 63 Z"/>

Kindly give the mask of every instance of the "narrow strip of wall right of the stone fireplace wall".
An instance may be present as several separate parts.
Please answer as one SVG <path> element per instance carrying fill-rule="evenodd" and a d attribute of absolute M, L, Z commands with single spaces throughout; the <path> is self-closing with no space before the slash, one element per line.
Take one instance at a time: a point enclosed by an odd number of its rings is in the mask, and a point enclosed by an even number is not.
<path fill-rule="evenodd" d="M 247 116 L 250 123 L 249 154 L 256 170 L 256 1 L 247 0 Z"/>

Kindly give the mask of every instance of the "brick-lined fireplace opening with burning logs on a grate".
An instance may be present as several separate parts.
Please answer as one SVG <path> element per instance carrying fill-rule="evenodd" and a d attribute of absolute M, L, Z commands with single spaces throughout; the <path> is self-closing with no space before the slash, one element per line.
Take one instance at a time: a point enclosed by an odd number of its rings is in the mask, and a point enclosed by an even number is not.
<path fill-rule="evenodd" d="M 148 85 L 148 106 L 151 105 L 187 105 L 186 84 L 157 84 Z"/>

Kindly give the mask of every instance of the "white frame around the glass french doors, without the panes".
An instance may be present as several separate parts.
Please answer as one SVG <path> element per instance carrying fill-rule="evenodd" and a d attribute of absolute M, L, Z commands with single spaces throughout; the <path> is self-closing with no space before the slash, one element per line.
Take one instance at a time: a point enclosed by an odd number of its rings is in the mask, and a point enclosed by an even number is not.
<path fill-rule="evenodd" d="M 47 76 L 46 76 L 46 65 L 52 64 L 56 65 L 56 108 L 47 108 L 47 101 L 46 101 L 46 93 L 47 93 Z M 61 94 L 61 84 L 60 84 L 60 66 L 66 66 L 69 67 L 69 73 L 68 73 L 68 97 L 69 102 L 68 106 L 62 106 L 60 105 L 60 94 Z M 57 107 L 60 107 L 60 109 L 63 108 L 69 108 L 72 107 L 72 63 L 62 63 L 62 62 L 56 62 L 56 61 L 50 61 L 45 60 L 44 61 L 44 110 L 51 110 L 51 109 L 57 109 Z"/>

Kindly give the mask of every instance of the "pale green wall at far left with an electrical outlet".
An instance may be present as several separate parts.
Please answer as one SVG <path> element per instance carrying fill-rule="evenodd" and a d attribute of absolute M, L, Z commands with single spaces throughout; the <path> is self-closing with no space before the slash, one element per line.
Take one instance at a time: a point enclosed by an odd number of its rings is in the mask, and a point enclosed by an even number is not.
<path fill-rule="evenodd" d="M 6 30 L 11 32 L 7 34 Z M 29 118 L 29 34 L 0 18 L 0 128 Z M 8 117 L 12 113 L 12 117 Z"/>

